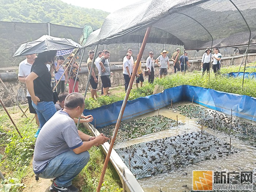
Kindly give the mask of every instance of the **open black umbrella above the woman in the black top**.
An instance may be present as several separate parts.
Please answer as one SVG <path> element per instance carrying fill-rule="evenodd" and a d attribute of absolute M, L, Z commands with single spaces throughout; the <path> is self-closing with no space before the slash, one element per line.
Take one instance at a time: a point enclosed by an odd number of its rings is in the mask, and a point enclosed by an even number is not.
<path fill-rule="evenodd" d="M 35 41 L 20 45 L 19 49 L 14 53 L 13 57 L 42 53 L 50 50 L 65 50 L 74 48 L 83 47 L 71 39 L 43 35 Z"/>

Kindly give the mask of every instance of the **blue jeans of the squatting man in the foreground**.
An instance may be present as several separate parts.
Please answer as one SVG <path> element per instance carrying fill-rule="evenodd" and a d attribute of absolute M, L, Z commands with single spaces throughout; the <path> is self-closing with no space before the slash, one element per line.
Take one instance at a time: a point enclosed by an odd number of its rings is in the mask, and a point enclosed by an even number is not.
<path fill-rule="evenodd" d="M 75 154 L 74 151 L 62 153 L 47 163 L 44 171 L 39 173 L 41 178 L 54 178 L 54 182 L 60 187 L 72 185 L 72 179 L 86 166 L 90 158 L 88 151 Z"/>

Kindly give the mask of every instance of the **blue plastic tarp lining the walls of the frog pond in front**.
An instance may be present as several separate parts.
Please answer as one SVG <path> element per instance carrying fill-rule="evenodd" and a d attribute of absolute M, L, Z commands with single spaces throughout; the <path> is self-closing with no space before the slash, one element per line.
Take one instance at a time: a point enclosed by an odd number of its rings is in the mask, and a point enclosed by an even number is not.
<path fill-rule="evenodd" d="M 122 121 L 163 108 L 170 105 L 171 100 L 176 103 L 184 100 L 192 101 L 192 99 L 195 103 L 227 115 L 231 115 L 232 109 L 233 116 L 256 121 L 256 98 L 189 85 L 172 87 L 164 90 L 163 93 L 128 101 Z M 94 125 L 96 119 L 96 128 L 102 128 L 116 123 L 122 103 L 123 101 L 117 101 L 96 109 L 85 109 L 83 113 L 93 115 L 94 120 L 91 124 Z"/>

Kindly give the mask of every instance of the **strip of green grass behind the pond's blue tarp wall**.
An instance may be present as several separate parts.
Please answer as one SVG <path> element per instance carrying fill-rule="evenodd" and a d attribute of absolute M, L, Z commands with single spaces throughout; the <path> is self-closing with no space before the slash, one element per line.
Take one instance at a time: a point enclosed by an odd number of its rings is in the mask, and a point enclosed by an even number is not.
<path fill-rule="evenodd" d="M 248 65 L 250 66 L 250 65 Z M 229 72 L 238 72 L 239 66 L 237 67 L 229 67 L 229 68 L 221 68 L 221 73 L 229 73 Z M 246 68 L 246 72 L 253 72 L 254 68 Z M 159 79 L 155 78 L 153 84 L 149 84 L 147 82 L 143 83 L 143 87 L 139 89 L 132 89 L 129 94 L 128 100 L 133 100 L 139 97 L 144 97 L 147 95 L 152 95 L 154 91 L 154 86 L 156 84 L 162 85 L 164 89 L 168 89 L 171 87 L 176 87 L 180 85 L 191 85 L 197 87 L 204 87 L 209 89 L 214 89 L 217 91 L 223 91 L 227 93 L 248 95 L 250 97 L 256 97 L 256 79 L 249 78 L 244 79 L 244 86 L 242 88 L 242 78 L 232 78 L 226 77 L 224 75 L 214 76 L 213 73 L 210 75 L 210 80 L 208 76 L 205 74 L 202 77 L 202 72 L 191 72 L 186 73 L 185 75 L 181 73 L 172 74 L 166 76 L 165 78 Z M 85 100 L 85 108 L 86 109 L 94 109 L 98 108 L 102 105 L 108 105 L 114 103 L 116 101 L 121 101 L 124 99 L 125 92 L 121 91 L 117 94 L 112 94 L 109 96 L 102 96 L 97 98 L 97 101 L 93 99 Z"/>

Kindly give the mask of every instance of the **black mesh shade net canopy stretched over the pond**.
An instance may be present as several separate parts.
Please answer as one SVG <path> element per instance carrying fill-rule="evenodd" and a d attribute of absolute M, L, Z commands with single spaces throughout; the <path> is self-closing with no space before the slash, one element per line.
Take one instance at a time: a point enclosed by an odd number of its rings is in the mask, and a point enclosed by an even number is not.
<path fill-rule="evenodd" d="M 86 46 L 142 42 L 150 25 L 147 42 L 151 43 L 205 49 L 211 47 L 213 39 L 213 47 L 241 46 L 248 44 L 250 29 L 250 44 L 256 44 L 255 18 L 254 0 L 140 1 L 108 15 Z"/>

